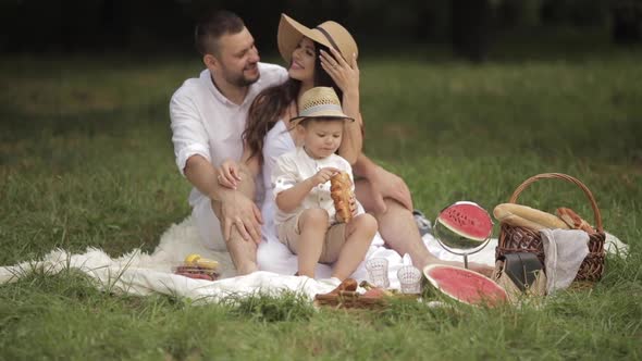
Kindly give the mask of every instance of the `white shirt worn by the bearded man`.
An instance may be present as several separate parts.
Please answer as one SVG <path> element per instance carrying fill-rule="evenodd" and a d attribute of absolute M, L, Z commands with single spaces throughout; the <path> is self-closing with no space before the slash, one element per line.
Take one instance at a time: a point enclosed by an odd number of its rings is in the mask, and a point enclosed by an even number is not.
<path fill-rule="evenodd" d="M 249 105 L 257 95 L 273 85 L 287 79 L 287 71 L 279 65 L 259 63 L 259 80 L 249 86 L 242 104 L 235 104 L 214 86 L 209 70 L 198 78 L 183 83 L 172 96 L 170 116 L 172 141 L 176 165 L 184 175 L 189 157 L 199 154 L 218 167 L 224 160 L 240 160 L 243 155 L 242 134 L 245 129 Z M 262 182 L 257 184 L 257 201 L 262 199 Z M 201 200 L 202 195 L 193 188 L 189 204 Z"/>

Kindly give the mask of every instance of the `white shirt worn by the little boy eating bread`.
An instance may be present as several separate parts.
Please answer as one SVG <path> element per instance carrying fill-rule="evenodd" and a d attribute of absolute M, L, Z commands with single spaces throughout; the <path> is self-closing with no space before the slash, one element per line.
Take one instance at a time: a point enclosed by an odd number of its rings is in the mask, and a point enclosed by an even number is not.
<path fill-rule="evenodd" d="M 272 170 L 274 197 L 280 192 L 294 187 L 297 183 L 304 182 L 313 176 L 321 171 L 321 169 L 329 166 L 347 172 L 350 176 L 350 180 L 353 180 L 353 191 L 355 190 L 353 169 L 348 161 L 337 154 L 332 154 L 323 159 L 313 159 L 306 153 L 303 147 L 298 147 L 296 150 L 284 153 L 276 159 L 276 164 Z M 274 217 L 274 223 L 276 225 L 284 223 L 310 208 L 322 208 L 326 210 L 330 215 L 330 222 L 332 224 L 336 223 L 336 210 L 334 209 L 334 201 L 330 197 L 330 182 L 325 182 L 312 188 L 306 198 L 304 198 L 299 207 L 294 211 L 283 212 L 279 209 L 276 216 Z"/>

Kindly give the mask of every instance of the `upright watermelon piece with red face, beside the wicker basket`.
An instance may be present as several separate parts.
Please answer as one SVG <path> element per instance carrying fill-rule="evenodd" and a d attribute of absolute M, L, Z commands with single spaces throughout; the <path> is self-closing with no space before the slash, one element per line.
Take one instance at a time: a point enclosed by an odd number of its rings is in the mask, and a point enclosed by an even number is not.
<path fill-rule="evenodd" d="M 480 242 L 493 232 L 489 212 L 473 202 L 456 202 L 440 213 L 437 222 L 462 238 Z"/>

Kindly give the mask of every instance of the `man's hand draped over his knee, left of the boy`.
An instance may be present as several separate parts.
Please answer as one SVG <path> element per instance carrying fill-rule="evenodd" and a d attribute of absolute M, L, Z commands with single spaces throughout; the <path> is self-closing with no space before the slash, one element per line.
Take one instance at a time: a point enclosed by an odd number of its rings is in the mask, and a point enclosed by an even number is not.
<path fill-rule="evenodd" d="M 236 227 L 245 240 L 254 240 L 257 245 L 261 242 L 261 224 L 263 217 L 255 202 L 239 191 L 230 190 L 225 192 L 220 202 L 221 224 L 223 224 L 223 236 L 229 241 L 232 227 Z M 212 201 L 212 208 L 214 201 Z"/>

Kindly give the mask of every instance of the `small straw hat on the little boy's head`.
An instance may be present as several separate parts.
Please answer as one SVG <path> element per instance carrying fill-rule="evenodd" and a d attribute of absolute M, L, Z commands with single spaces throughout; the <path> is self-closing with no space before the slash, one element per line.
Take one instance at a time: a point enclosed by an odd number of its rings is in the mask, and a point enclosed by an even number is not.
<path fill-rule="evenodd" d="M 354 122 L 355 120 L 343 113 L 341 102 L 334 89 L 330 87 L 316 87 L 304 92 L 299 102 L 299 115 L 289 120 L 296 124 L 307 117 L 342 119 Z"/>

